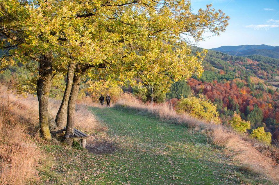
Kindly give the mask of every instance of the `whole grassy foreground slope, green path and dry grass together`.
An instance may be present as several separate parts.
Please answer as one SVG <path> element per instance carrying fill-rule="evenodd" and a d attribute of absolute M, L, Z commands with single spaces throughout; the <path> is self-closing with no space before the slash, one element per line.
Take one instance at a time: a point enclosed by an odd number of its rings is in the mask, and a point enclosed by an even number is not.
<path fill-rule="evenodd" d="M 59 138 L 46 141 L 38 137 L 36 97 L 15 97 L 3 86 L 0 95 L 0 154 L 6 160 L 1 163 L 3 184 L 272 184 L 268 179 L 273 179 L 276 162 L 260 154 L 252 143 L 244 147 L 235 142 L 235 136 L 231 140 L 230 134 L 220 130 L 224 138 L 214 139 L 208 129 L 194 126 L 201 121 L 187 116 L 187 125 L 181 121 L 180 125 L 169 124 L 158 118 L 161 114 L 169 119 L 178 116 L 167 104 L 150 106 L 154 115 L 145 113 L 146 105 L 138 101 L 140 110 L 121 102 L 114 108 L 93 104 L 89 110 L 78 104 L 76 127 L 89 135 L 85 150 L 78 140 L 69 147 L 58 142 Z M 56 111 L 59 102 L 50 102 L 50 110 Z M 160 114 L 158 108 L 162 108 Z M 237 144 L 242 155 L 249 149 L 245 165 L 232 148 L 219 147 L 218 142 L 224 140 Z M 231 141 L 226 142 L 231 145 Z"/>

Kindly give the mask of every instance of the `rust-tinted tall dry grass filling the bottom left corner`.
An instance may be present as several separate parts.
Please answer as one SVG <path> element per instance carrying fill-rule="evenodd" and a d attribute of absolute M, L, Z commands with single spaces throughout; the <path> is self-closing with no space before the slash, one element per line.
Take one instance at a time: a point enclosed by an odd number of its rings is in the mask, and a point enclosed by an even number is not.
<path fill-rule="evenodd" d="M 0 88 L 0 93 L 3 88 Z M 2 99 L 1 99 L 2 100 Z M 0 102 L 0 183 L 25 184 L 30 181 L 42 158 L 40 148 L 23 125 L 33 124 L 22 107 Z M 18 116 L 17 116 L 18 114 Z M 22 120 L 22 117 L 25 119 Z M 29 122 L 31 121 L 31 122 Z"/>

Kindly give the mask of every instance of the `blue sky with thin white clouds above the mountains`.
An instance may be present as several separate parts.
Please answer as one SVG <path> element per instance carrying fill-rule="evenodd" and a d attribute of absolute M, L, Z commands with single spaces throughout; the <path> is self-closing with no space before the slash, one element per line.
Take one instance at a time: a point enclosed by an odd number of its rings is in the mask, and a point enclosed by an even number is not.
<path fill-rule="evenodd" d="M 199 47 L 211 49 L 246 44 L 279 46 L 279 0 L 191 0 L 192 10 L 195 13 L 209 3 L 230 16 L 230 25 L 219 36 L 199 42 Z"/>

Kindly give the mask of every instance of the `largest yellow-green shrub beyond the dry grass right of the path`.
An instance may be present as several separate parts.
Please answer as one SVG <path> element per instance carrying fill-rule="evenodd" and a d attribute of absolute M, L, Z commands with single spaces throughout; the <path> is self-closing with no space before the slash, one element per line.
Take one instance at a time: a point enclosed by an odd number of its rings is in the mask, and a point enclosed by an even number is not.
<path fill-rule="evenodd" d="M 189 96 L 182 98 L 177 102 L 176 110 L 178 113 L 189 113 L 190 115 L 204 119 L 206 121 L 213 121 L 221 123 L 219 120 L 219 113 L 217 112 L 216 105 L 213 105 L 203 97 Z"/>

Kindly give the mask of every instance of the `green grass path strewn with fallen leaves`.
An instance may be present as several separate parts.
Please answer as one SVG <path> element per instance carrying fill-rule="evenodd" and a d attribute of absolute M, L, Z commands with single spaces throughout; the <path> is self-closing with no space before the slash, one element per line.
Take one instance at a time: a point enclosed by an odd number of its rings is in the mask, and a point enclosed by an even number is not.
<path fill-rule="evenodd" d="M 111 153 L 92 154 L 63 145 L 44 147 L 50 164 L 41 184 L 259 184 L 238 171 L 205 135 L 151 116 L 117 108 L 92 108 L 107 127 L 95 137 L 114 143 Z"/>

